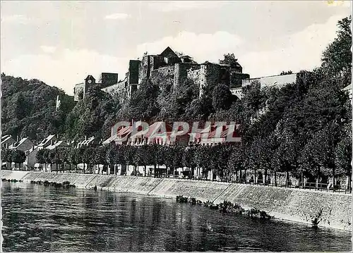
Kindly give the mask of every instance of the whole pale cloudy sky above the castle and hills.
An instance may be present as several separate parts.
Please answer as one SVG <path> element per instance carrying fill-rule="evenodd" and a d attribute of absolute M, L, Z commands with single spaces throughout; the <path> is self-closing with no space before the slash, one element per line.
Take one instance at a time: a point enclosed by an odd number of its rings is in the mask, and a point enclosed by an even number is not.
<path fill-rule="evenodd" d="M 73 94 L 87 75 L 125 77 L 166 47 L 202 63 L 234 53 L 251 78 L 312 70 L 350 1 L 1 1 L 1 73 Z"/>

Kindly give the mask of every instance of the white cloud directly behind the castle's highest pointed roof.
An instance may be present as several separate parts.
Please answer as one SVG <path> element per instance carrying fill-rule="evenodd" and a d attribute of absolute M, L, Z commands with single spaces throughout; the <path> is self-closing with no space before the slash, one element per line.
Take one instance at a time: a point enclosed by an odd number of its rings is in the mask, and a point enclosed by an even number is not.
<path fill-rule="evenodd" d="M 166 47 L 175 51 L 189 54 L 198 62 L 218 61 L 223 54 L 237 50 L 241 38 L 229 32 L 215 32 L 214 34 L 196 34 L 193 32 L 180 32 L 177 37 L 164 37 L 155 42 L 137 46 L 138 55 L 145 51 L 148 54 L 160 54 Z"/>

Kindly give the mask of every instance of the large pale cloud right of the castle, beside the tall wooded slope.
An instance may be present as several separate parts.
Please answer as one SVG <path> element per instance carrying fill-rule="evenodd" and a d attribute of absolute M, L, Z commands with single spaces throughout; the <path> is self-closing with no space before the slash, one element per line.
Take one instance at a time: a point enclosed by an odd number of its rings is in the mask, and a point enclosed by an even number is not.
<path fill-rule="evenodd" d="M 326 23 L 313 24 L 301 32 L 280 37 L 277 49 L 244 52 L 239 56 L 239 63 L 244 72 L 253 77 L 277 75 L 282 70 L 312 70 L 321 66 L 321 55 L 336 37 L 337 20 L 342 18 L 344 16 L 333 16 Z"/>

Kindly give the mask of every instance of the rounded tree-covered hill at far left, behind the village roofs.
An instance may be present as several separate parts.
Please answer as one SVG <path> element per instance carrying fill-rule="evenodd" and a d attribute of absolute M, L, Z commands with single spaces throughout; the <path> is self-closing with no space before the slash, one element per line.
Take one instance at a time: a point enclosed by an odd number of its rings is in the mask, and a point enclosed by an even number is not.
<path fill-rule="evenodd" d="M 40 142 L 49 134 L 64 134 L 66 116 L 75 106 L 73 97 L 57 87 L 32 79 L 1 74 L 2 135 L 29 137 Z M 56 97 L 61 106 L 56 111 Z"/>

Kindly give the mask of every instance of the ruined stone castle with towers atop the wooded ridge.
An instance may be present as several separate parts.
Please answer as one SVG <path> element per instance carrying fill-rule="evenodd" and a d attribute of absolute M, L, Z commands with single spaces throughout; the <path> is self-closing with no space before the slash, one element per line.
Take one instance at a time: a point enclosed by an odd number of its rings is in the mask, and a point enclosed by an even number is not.
<path fill-rule="evenodd" d="M 143 79 L 155 78 L 162 75 L 173 82 L 174 87 L 180 84 L 186 78 L 200 87 L 200 96 L 205 87 L 224 83 L 230 88 L 241 87 L 242 80 L 250 78 L 248 74 L 242 73 L 242 67 L 239 63 L 232 66 L 227 64 L 197 63 L 191 56 L 181 56 L 175 53 L 170 47 L 167 47 L 161 54 L 144 55 L 142 60 L 130 60 L 128 63 L 128 72 L 123 80 L 118 81 L 117 73 L 102 73 L 100 81 L 104 92 L 110 94 L 124 94 L 127 98 L 131 97 Z M 84 82 L 75 85 L 75 101 L 83 99 L 88 85 L 96 85 L 95 78 L 88 75 Z"/>

